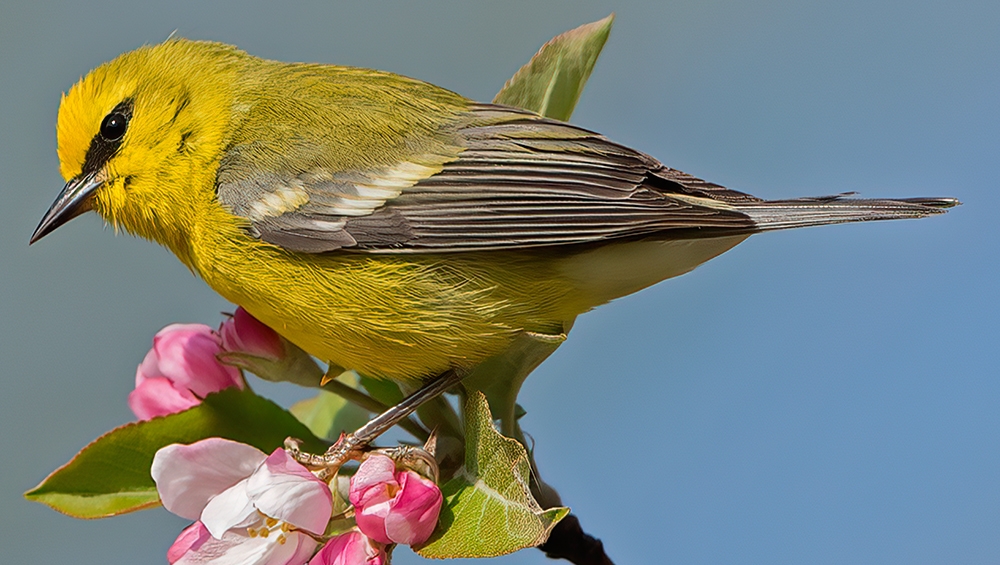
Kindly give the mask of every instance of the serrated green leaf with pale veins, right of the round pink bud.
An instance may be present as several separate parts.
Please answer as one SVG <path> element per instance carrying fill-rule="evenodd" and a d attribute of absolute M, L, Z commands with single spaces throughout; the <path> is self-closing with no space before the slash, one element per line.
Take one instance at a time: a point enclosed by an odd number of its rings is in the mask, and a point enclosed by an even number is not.
<path fill-rule="evenodd" d="M 445 504 L 424 557 L 496 557 L 545 542 L 569 509 L 542 509 L 531 496 L 528 454 L 493 427 L 486 397 L 465 405 L 465 465 L 441 491 Z"/>

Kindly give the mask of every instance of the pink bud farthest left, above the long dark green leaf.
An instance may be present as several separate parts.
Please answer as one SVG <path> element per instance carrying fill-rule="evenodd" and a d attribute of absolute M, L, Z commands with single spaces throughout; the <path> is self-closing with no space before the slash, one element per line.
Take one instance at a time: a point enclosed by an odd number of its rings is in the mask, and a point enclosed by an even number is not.
<path fill-rule="evenodd" d="M 222 341 L 203 324 L 172 324 L 153 338 L 153 348 L 135 372 L 129 407 L 140 420 L 197 406 L 205 396 L 243 388 L 239 369 L 223 365 Z"/>

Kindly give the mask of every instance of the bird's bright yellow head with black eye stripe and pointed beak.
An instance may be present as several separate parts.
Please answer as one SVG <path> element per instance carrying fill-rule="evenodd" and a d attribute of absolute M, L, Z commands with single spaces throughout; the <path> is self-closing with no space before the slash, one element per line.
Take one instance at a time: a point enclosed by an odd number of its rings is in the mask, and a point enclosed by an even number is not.
<path fill-rule="evenodd" d="M 211 199 L 231 120 L 235 48 L 171 39 L 94 69 L 63 96 L 57 135 L 66 186 L 31 242 L 94 210 L 180 256 Z M 207 175 L 207 176 L 206 176 Z M 184 257 L 182 257 L 184 259 Z"/>

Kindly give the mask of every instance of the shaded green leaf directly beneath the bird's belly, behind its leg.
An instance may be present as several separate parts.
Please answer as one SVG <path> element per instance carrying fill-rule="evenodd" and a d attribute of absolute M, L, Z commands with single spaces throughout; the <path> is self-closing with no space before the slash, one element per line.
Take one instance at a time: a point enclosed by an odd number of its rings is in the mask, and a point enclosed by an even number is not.
<path fill-rule="evenodd" d="M 481 363 L 462 381 L 469 390 L 486 394 L 504 435 L 516 437 L 514 424 L 520 417 L 517 395 L 524 380 L 564 341 L 566 334 L 525 332 L 506 351 Z"/>

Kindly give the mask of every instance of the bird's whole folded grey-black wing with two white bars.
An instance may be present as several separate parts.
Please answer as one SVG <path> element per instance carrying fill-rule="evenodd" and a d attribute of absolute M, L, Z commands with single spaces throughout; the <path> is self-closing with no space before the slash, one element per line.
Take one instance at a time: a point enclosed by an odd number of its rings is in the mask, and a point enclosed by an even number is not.
<path fill-rule="evenodd" d="M 222 160 L 219 200 L 248 219 L 255 236 L 308 253 L 747 233 L 761 229 L 755 212 L 770 204 L 596 133 L 503 106 L 473 106 L 441 129 L 431 149 L 410 145 L 401 160 L 348 170 L 323 166 L 322 152 L 314 163 L 259 170 L 252 147 L 236 146 Z"/>

